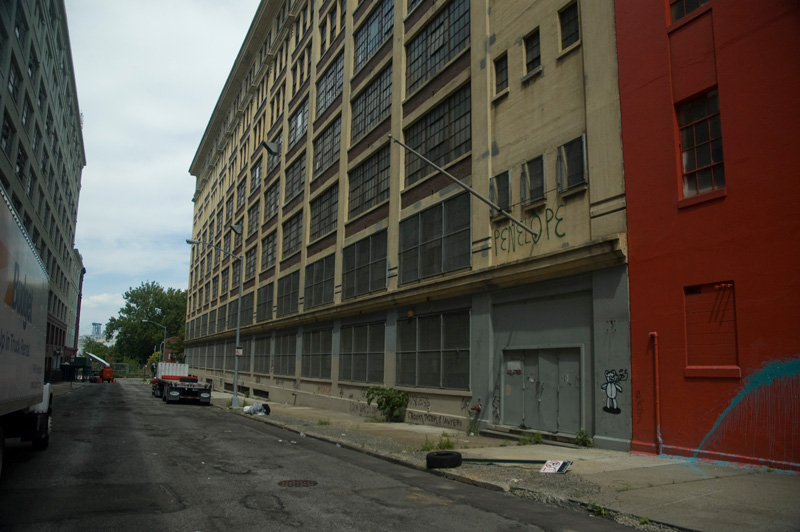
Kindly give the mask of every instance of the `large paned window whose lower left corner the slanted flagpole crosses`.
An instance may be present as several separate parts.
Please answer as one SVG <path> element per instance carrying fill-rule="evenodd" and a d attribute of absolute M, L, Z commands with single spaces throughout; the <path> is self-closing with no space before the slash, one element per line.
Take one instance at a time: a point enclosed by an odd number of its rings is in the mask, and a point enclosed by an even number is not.
<path fill-rule="evenodd" d="M 465 85 L 405 131 L 411 148 L 439 166 L 472 149 L 470 86 Z M 431 167 L 419 157 L 406 157 L 406 186 L 416 183 Z"/>

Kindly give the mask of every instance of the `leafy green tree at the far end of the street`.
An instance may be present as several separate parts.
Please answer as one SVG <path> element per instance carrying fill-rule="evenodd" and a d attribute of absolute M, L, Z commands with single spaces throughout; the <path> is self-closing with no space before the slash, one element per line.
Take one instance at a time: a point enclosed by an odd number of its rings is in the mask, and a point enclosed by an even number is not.
<path fill-rule="evenodd" d="M 167 328 L 167 337 L 177 336 L 183 345 L 186 322 L 186 291 L 176 288 L 166 290 L 150 281 L 123 294 L 125 306 L 119 317 L 106 324 L 106 338 L 117 336 L 116 349 L 127 358 L 144 364 L 154 350 L 161 349 L 164 329 L 147 323 L 148 320 Z M 170 343 L 169 346 L 173 344 Z M 169 347 L 168 346 L 168 347 Z"/>

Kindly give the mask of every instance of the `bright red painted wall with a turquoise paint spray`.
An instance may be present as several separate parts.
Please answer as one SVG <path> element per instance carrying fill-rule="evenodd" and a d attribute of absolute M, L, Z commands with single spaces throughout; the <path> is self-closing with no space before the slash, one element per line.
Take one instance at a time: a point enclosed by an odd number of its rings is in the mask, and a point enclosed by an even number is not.
<path fill-rule="evenodd" d="M 800 469 L 800 3 L 711 0 L 674 24 L 668 0 L 615 6 L 632 449 L 657 452 L 660 408 L 665 454 Z M 675 104 L 709 86 L 726 186 L 687 202 Z M 720 282 L 735 287 L 740 376 L 686 370 L 684 287 Z"/>

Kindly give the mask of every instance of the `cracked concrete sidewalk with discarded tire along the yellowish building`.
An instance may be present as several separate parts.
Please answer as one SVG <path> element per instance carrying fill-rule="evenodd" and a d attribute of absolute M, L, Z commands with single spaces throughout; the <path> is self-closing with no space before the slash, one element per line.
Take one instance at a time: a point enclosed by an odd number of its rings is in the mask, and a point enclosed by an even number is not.
<path fill-rule="evenodd" d="M 74 390 L 99 385 L 72 386 Z M 67 383 L 54 390 L 56 395 L 70 391 Z M 449 440 L 465 462 L 457 468 L 430 472 L 565 509 L 608 513 L 610 518 L 641 530 L 800 531 L 800 475 L 792 472 L 563 444 L 518 446 L 513 441 L 441 427 L 372 423 L 344 412 L 273 402 L 267 403 L 270 415 L 252 416 L 242 409 L 230 410 L 230 400 L 229 393 L 212 393 L 214 406 L 288 429 L 296 434 L 295 439 L 313 437 L 338 443 L 417 469 L 426 469 L 425 457 L 431 448 Z M 242 396 L 239 400 L 253 403 Z M 566 474 L 543 474 L 541 463 L 470 459 L 573 463 Z"/>

